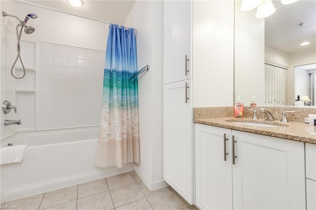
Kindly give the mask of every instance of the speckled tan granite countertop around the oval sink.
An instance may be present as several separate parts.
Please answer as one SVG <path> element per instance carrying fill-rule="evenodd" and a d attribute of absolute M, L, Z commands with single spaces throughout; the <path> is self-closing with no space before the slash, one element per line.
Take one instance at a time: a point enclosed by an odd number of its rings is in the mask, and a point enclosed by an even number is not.
<path fill-rule="evenodd" d="M 288 140 L 297 140 L 316 144 L 316 126 L 305 125 L 303 122 L 266 121 L 263 119 L 253 120 L 251 118 L 237 119 L 234 117 L 218 117 L 207 119 L 195 119 L 195 123 L 228 128 L 254 134 L 278 137 Z M 259 122 L 278 125 L 277 127 L 261 127 L 252 125 L 240 125 L 232 122 Z"/>

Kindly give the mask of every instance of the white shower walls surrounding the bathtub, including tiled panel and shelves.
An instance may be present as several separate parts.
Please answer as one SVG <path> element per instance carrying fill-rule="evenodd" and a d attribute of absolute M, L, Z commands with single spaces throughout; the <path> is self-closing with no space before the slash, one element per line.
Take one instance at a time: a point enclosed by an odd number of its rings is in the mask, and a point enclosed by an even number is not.
<path fill-rule="evenodd" d="M 99 125 L 100 116 L 97 116 L 97 112 L 100 112 L 102 103 L 104 53 L 109 25 L 13 0 L 1 1 L 1 11 L 22 20 L 28 13 L 38 15 L 38 18 L 27 23 L 35 27 L 35 32 L 30 35 L 23 32 L 21 36 L 21 56 L 25 67 L 30 69 L 27 70 L 26 77 L 14 81 L 12 77 L 7 76 L 9 70 L 2 71 L 4 68 L 1 67 L 1 85 L 5 87 L 1 91 L 1 101 L 5 100 L 2 100 L 5 91 L 10 89 L 15 93 L 13 98 L 15 97 L 16 104 L 14 99 L 11 99 L 11 102 L 17 106 L 18 113 L 11 118 L 19 118 L 22 121 L 21 126 L 5 128 L 2 128 L 1 123 L 1 133 L 8 133 L 14 127 L 17 132 L 23 132 Z M 1 25 L 15 37 L 18 21 L 2 15 L 0 18 Z M 6 37 L 8 33 L 3 33 L 1 55 L 7 56 L 2 52 L 11 50 L 16 56 L 16 44 L 5 45 L 9 37 Z M 43 54 L 43 50 L 36 47 L 37 41 L 48 45 L 55 44 L 51 48 L 51 55 L 47 54 L 47 50 L 46 54 Z M 65 52 L 71 49 L 75 54 L 70 58 Z M 95 55 L 95 58 L 91 55 Z M 47 60 L 48 57 L 50 59 Z M 75 63 L 69 66 L 67 59 L 72 59 Z M 53 63 L 47 64 L 48 61 Z M 6 65 L 9 64 L 13 64 L 12 59 Z M 16 67 L 21 67 L 19 61 Z M 71 74 L 67 71 L 70 68 Z M 16 83 L 16 91 L 8 82 L 11 80 L 14 81 L 13 84 Z M 65 100 L 61 100 L 63 97 Z M 86 106 L 90 108 L 87 109 Z"/>

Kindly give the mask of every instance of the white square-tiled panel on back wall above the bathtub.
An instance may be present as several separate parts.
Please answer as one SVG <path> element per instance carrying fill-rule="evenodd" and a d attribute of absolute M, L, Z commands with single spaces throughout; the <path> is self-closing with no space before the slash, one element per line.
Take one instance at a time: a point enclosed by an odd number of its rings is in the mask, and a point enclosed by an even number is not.
<path fill-rule="evenodd" d="M 39 42 L 37 130 L 100 124 L 105 53 Z"/>

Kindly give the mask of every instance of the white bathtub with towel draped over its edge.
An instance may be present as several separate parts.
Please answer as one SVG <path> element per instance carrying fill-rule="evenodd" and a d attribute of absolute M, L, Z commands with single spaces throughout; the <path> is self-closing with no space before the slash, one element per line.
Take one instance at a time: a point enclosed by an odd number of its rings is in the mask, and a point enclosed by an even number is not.
<path fill-rule="evenodd" d="M 94 166 L 99 127 L 24 132 L 0 141 L 27 144 L 20 163 L 0 166 L 0 203 L 134 170 Z"/>

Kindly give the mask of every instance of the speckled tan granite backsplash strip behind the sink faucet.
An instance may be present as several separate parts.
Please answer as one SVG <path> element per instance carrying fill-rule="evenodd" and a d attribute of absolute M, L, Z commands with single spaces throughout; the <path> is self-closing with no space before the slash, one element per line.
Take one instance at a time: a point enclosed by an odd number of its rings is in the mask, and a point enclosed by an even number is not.
<path fill-rule="evenodd" d="M 316 114 L 316 108 L 312 107 L 271 107 L 271 106 L 245 106 L 244 117 L 252 117 L 253 112 L 248 109 L 257 110 L 259 119 L 264 119 L 264 114 L 260 112 L 260 108 L 266 108 L 275 117 L 276 120 L 280 120 L 284 111 L 296 111 L 296 113 L 287 113 L 287 120 L 289 122 L 305 122 L 305 118 L 308 114 Z M 217 117 L 234 117 L 233 106 L 227 107 L 200 107 L 194 108 L 194 120 L 196 119 L 207 119 Z"/>

